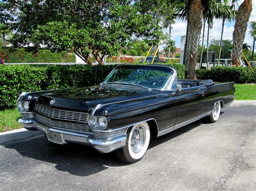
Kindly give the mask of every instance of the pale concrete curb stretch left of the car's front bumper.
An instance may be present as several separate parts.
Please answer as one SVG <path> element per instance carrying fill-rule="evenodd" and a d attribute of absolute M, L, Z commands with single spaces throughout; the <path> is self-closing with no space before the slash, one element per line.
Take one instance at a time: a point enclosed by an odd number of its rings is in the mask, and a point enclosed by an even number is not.
<path fill-rule="evenodd" d="M 0 145 L 21 142 L 24 139 L 42 136 L 41 131 L 29 131 L 25 128 L 0 133 Z"/>

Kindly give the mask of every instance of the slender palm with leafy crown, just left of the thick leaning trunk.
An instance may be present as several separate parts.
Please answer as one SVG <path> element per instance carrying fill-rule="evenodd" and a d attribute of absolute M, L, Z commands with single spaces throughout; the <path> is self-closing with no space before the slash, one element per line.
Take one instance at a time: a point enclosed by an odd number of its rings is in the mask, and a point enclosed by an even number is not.
<path fill-rule="evenodd" d="M 229 4 L 229 0 L 224 0 L 223 3 L 219 3 L 217 6 L 217 18 L 222 18 L 222 28 L 221 28 L 221 36 L 220 36 L 220 51 L 219 51 L 219 58 L 217 62 L 217 66 L 220 62 L 220 55 L 221 55 L 221 48 L 223 44 L 223 32 L 225 26 L 225 20 L 231 21 L 235 18 L 235 10 L 234 10 L 234 1 L 232 4 Z"/>

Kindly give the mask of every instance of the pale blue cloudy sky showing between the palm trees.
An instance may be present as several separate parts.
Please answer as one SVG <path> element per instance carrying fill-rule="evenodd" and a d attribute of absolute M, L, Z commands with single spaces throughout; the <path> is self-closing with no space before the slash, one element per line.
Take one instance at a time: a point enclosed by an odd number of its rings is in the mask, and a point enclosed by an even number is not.
<path fill-rule="evenodd" d="M 242 1 L 238 2 L 238 5 L 240 5 L 241 2 Z M 252 6 L 253 6 L 253 10 L 251 12 L 250 21 L 256 21 L 256 0 L 252 1 Z M 235 22 L 225 22 L 223 39 L 232 40 L 234 25 L 235 25 Z M 172 25 L 171 39 L 176 42 L 176 47 L 180 47 L 180 37 L 186 35 L 186 27 L 187 27 L 187 22 L 182 22 L 180 20 L 176 20 L 176 22 Z M 220 40 L 221 27 L 222 27 L 222 20 L 214 19 L 213 28 L 210 30 L 209 42 L 212 39 Z M 247 29 L 249 30 L 249 26 L 247 27 Z M 166 30 L 166 31 L 169 31 L 169 30 Z M 203 34 L 203 29 L 201 34 Z M 207 40 L 206 36 L 207 36 L 207 25 L 205 26 L 205 39 L 204 39 L 205 46 L 206 46 L 206 40 Z M 200 39 L 200 45 L 201 45 L 201 40 L 202 38 Z M 244 43 L 247 43 L 252 47 L 253 38 L 251 37 L 248 31 L 246 31 Z"/>

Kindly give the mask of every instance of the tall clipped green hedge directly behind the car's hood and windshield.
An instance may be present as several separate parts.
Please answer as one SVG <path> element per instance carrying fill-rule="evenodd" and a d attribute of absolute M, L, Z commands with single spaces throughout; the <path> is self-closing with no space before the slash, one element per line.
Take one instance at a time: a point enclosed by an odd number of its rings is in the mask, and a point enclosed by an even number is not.
<path fill-rule="evenodd" d="M 171 66 L 177 69 L 180 78 L 184 78 L 183 65 Z M 15 107 L 22 91 L 94 86 L 102 82 L 114 67 L 115 65 L 0 66 L 0 110 Z"/>

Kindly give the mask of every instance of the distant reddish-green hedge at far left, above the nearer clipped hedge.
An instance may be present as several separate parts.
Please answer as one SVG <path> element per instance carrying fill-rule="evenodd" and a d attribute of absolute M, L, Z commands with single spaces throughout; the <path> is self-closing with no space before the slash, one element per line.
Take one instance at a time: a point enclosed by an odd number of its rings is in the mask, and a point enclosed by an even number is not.
<path fill-rule="evenodd" d="M 51 52 L 47 49 L 41 49 L 38 52 L 31 52 L 28 48 L 0 48 L 0 57 L 5 63 L 59 63 L 76 62 L 75 54 L 67 51 Z"/>

